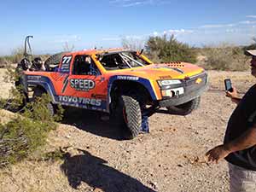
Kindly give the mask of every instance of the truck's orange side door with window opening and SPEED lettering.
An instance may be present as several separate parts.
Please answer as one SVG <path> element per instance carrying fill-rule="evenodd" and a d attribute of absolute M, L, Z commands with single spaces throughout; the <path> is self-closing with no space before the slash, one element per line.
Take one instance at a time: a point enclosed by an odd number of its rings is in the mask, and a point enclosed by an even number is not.
<path fill-rule="evenodd" d="M 90 55 L 76 55 L 71 73 L 63 83 L 59 101 L 79 108 L 106 111 L 108 82 Z"/>

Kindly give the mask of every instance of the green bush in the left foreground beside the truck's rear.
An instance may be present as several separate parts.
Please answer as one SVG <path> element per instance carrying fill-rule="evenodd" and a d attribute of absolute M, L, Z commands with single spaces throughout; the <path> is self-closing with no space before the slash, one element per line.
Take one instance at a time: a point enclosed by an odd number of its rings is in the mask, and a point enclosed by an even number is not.
<path fill-rule="evenodd" d="M 13 74 L 11 69 L 9 74 Z M 7 80 L 14 80 L 9 77 Z M 22 87 L 20 88 L 22 90 Z M 20 98 L 20 99 L 18 99 Z M 23 92 L 17 87 L 10 90 L 9 99 L 0 101 L 3 108 L 17 108 L 22 100 Z M 56 127 L 55 119 L 60 120 L 63 110 L 58 110 L 57 115 L 49 113 L 47 104 L 50 102 L 48 95 L 37 97 L 34 102 L 29 102 L 7 124 L 0 125 L 0 168 L 9 166 L 23 160 L 35 149 L 46 142 L 50 130 Z"/>

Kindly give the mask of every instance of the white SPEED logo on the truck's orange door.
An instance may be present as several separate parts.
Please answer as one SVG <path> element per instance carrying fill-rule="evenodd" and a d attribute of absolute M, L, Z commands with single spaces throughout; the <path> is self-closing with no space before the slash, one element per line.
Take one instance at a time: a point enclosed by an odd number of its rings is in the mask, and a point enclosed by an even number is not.
<path fill-rule="evenodd" d="M 70 79 L 70 86 L 75 90 L 89 91 L 95 88 L 95 82 L 91 79 Z"/>

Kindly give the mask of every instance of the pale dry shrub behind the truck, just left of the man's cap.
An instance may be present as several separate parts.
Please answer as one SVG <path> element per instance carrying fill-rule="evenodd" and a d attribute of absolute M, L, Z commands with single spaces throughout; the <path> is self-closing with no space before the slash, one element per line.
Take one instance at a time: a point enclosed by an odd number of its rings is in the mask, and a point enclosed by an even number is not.
<path fill-rule="evenodd" d="M 240 47 L 222 44 L 218 47 L 205 47 L 201 55 L 206 56 L 200 65 L 206 69 L 223 71 L 245 71 L 249 68 L 249 57 Z"/>

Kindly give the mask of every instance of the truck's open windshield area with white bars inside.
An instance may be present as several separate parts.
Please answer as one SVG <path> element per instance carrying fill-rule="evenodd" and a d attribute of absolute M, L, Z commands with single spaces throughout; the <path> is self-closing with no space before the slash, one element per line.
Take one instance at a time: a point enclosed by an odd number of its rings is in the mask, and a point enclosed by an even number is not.
<path fill-rule="evenodd" d="M 143 67 L 149 64 L 140 58 L 136 52 L 131 51 L 108 53 L 103 55 L 101 63 L 106 70 Z"/>

